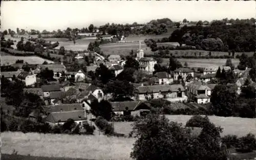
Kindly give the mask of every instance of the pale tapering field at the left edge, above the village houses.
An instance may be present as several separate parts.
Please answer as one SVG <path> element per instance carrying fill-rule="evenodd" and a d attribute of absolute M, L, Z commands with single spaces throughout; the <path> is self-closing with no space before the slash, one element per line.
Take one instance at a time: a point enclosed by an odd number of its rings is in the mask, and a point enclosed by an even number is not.
<path fill-rule="evenodd" d="M 24 60 L 24 63 L 28 62 L 29 64 L 42 64 L 45 61 L 47 61 L 48 63 L 54 63 L 53 61 L 46 60 L 37 56 L 3 56 L 1 52 L 1 65 L 15 64 L 17 60 Z"/>

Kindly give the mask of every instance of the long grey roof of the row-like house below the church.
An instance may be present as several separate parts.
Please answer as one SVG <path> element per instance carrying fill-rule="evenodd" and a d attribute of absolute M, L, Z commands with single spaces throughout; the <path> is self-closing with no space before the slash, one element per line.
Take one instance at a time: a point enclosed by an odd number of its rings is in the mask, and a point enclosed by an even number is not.
<path fill-rule="evenodd" d="M 135 91 L 137 93 L 156 93 L 156 92 L 178 92 L 179 88 L 181 91 L 185 91 L 182 85 L 153 85 L 153 86 L 140 86 Z"/>

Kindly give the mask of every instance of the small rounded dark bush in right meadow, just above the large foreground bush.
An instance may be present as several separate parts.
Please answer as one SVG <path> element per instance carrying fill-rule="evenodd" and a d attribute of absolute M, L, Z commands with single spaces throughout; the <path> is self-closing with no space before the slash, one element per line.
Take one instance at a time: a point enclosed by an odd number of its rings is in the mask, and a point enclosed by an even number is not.
<path fill-rule="evenodd" d="M 187 127 L 203 127 L 206 123 L 209 123 L 209 118 L 207 116 L 202 117 L 200 115 L 195 115 L 191 117 L 187 123 Z"/>

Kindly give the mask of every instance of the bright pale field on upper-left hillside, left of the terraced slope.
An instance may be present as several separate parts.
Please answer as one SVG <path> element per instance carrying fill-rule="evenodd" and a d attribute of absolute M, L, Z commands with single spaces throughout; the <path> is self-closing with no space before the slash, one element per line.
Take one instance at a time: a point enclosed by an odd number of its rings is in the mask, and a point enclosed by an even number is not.
<path fill-rule="evenodd" d="M 65 47 L 66 50 L 86 50 L 90 42 L 94 42 L 96 39 L 91 38 L 82 38 L 76 40 L 76 44 L 73 41 L 59 41 L 59 45 L 55 49 L 59 49 L 61 46 Z M 54 39 L 51 39 L 52 42 L 55 42 Z"/>

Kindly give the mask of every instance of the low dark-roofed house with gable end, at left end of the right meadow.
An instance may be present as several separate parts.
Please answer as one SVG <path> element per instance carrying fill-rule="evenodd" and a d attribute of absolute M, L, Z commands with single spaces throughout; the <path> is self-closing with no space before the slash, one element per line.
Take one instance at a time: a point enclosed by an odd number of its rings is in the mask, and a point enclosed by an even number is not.
<path fill-rule="evenodd" d="M 150 112 L 151 107 L 142 101 L 122 101 L 110 102 L 115 115 L 143 115 L 144 112 Z"/>

